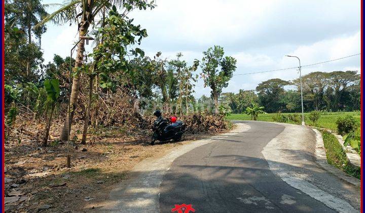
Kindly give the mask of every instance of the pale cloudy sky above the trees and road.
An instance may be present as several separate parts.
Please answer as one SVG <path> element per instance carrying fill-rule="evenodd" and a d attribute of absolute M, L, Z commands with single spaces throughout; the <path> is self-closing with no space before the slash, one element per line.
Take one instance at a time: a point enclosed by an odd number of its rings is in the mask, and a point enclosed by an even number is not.
<path fill-rule="evenodd" d="M 191 64 L 208 47 L 220 45 L 226 55 L 237 59 L 235 74 L 245 74 L 298 65 L 296 58 L 285 55 L 296 55 L 306 65 L 360 53 L 360 1 L 157 0 L 156 4 L 152 11 L 129 15 L 148 31 L 140 48 L 149 56 L 161 51 L 172 59 L 182 52 Z M 77 27 L 51 23 L 47 27 L 42 37 L 46 62 L 53 54 L 69 55 Z M 302 73 L 332 70 L 360 70 L 360 56 L 303 67 Z M 268 79 L 297 77 L 296 69 L 238 75 L 223 91 L 255 89 Z M 210 94 L 201 79 L 195 90 L 196 97 Z"/>

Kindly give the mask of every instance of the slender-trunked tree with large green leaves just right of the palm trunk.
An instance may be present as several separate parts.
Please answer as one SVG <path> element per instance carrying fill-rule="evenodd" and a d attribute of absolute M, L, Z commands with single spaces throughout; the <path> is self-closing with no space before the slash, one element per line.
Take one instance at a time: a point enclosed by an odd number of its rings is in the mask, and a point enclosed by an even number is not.
<path fill-rule="evenodd" d="M 140 25 L 134 25 L 133 20 L 126 20 L 118 13 L 117 8 L 109 11 L 109 16 L 105 20 L 105 26 L 99 28 L 103 43 L 98 44 L 93 53 L 92 67 L 84 66 L 86 74 L 89 76 L 89 100 L 85 112 L 84 132 L 81 140 L 86 143 L 86 133 L 89 124 L 89 113 L 93 95 L 93 81 L 97 74 L 103 73 L 105 76 L 115 72 L 126 75 L 130 82 L 135 82 L 133 69 L 128 66 L 126 56 L 144 56 L 144 52 L 139 48 L 130 49 L 131 46 L 147 37 L 146 29 L 141 29 Z"/>

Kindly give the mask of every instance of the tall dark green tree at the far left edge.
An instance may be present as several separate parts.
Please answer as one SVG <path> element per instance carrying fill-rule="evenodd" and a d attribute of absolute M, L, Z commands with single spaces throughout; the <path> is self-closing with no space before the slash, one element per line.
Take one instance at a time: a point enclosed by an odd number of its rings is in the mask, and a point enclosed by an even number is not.
<path fill-rule="evenodd" d="M 46 27 L 42 25 L 32 30 L 40 19 L 47 15 L 40 1 L 5 1 L 5 73 L 7 84 L 17 84 L 22 91 L 23 102 L 29 109 L 32 93 L 27 89 L 28 82 L 38 84 L 41 80 L 43 53 L 32 35 L 41 38 Z"/>

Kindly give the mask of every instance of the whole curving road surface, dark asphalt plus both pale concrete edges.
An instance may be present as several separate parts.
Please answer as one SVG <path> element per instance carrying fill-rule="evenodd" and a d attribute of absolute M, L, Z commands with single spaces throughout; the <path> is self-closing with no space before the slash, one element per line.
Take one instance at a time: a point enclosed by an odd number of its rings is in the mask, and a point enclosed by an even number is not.
<path fill-rule="evenodd" d="M 171 212 L 182 203 L 195 212 L 359 211 L 359 187 L 316 164 L 310 128 L 238 125 L 249 128 L 143 164 L 135 180 L 111 193 L 115 202 L 104 211 Z"/>

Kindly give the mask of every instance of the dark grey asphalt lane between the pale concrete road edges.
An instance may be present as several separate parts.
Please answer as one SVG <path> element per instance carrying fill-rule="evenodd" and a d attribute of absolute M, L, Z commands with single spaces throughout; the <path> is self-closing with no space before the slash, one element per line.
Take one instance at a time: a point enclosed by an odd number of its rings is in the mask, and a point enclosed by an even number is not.
<path fill-rule="evenodd" d="M 262 151 L 284 126 L 246 124 L 248 131 L 216 139 L 172 162 L 159 188 L 161 212 L 182 203 L 192 204 L 195 212 L 337 212 L 270 169 Z"/>

